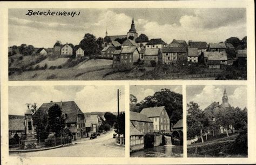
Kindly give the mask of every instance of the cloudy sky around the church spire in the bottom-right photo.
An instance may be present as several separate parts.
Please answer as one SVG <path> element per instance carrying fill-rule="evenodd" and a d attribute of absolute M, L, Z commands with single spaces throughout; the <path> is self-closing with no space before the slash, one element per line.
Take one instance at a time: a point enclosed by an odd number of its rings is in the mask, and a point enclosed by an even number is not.
<path fill-rule="evenodd" d="M 247 107 L 247 87 L 245 85 L 191 85 L 186 86 L 186 102 L 196 102 L 200 109 L 205 109 L 213 101 L 222 102 L 226 87 L 228 102 L 233 107 Z"/>

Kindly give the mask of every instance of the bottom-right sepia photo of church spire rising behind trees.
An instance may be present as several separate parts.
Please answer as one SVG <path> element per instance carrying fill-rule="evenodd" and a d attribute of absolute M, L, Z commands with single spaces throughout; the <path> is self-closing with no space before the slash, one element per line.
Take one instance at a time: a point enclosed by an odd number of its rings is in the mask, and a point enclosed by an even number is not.
<path fill-rule="evenodd" d="M 247 86 L 186 87 L 187 157 L 247 157 Z"/>

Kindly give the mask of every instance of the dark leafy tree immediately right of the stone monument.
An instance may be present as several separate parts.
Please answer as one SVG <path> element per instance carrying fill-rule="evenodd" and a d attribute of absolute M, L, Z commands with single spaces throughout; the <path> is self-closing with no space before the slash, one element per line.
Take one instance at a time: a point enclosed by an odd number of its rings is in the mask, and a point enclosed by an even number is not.
<path fill-rule="evenodd" d="M 49 135 L 48 113 L 44 109 L 37 109 L 33 114 L 33 125 L 37 133 L 37 138 L 46 139 Z"/>

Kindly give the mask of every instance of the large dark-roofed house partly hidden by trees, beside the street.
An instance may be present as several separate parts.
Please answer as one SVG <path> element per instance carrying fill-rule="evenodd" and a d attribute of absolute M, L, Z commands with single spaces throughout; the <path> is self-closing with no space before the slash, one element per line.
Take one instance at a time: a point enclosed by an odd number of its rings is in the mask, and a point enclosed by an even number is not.
<path fill-rule="evenodd" d="M 85 117 L 84 113 L 77 106 L 75 101 L 60 101 L 60 102 L 48 102 L 44 103 L 38 109 L 48 111 L 49 108 L 57 104 L 62 110 L 62 114 L 65 117 L 66 127 L 69 128 L 73 135 L 73 140 L 86 137 L 85 132 Z"/>

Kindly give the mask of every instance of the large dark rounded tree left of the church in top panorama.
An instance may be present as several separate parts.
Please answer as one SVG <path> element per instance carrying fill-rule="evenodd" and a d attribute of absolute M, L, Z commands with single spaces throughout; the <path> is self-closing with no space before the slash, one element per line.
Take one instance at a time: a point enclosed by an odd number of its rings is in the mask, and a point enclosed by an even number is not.
<path fill-rule="evenodd" d="M 89 57 L 95 57 L 97 53 L 97 43 L 95 36 L 90 33 L 86 33 L 84 35 L 84 39 L 82 39 L 79 45 L 84 50 L 84 55 Z"/>

